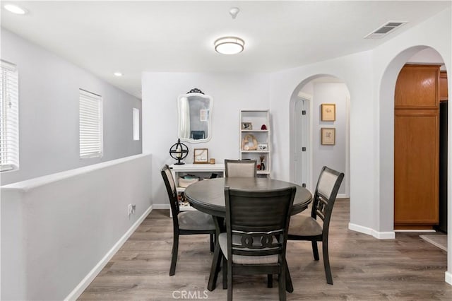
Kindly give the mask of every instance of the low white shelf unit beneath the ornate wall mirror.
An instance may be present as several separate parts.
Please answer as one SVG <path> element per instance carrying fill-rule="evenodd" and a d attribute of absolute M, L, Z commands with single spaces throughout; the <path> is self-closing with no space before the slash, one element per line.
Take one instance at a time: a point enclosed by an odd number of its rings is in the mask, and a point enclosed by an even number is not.
<path fill-rule="evenodd" d="M 218 177 L 225 177 L 225 165 L 224 164 L 184 164 L 184 165 L 169 165 L 174 182 L 176 182 L 176 190 L 179 194 L 183 194 L 184 187 L 179 187 L 179 178 L 184 175 L 194 175 L 200 177 L 200 180 L 208 179 L 215 173 Z M 182 206 L 179 204 L 180 211 L 196 210 L 195 208 L 186 204 Z M 169 216 L 172 216 L 171 210 L 169 210 Z"/>

